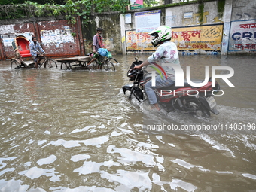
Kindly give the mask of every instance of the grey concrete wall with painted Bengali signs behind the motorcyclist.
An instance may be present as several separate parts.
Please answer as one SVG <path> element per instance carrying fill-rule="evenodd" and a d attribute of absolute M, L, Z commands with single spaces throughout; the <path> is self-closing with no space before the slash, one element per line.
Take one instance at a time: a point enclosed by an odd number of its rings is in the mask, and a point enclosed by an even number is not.
<path fill-rule="evenodd" d="M 161 12 L 161 25 L 172 26 L 172 41 L 183 54 L 255 53 L 256 1 L 225 0 L 222 13 L 218 12 L 218 1 L 204 2 L 202 23 L 198 4 L 160 6 L 154 10 Z M 126 17 L 120 16 L 121 38 L 125 40 L 123 53 L 154 50 L 154 47 L 143 48 L 151 46 L 146 32 L 135 32 L 136 13 L 144 11 L 147 9 L 130 11 L 132 22 L 125 25 Z"/>

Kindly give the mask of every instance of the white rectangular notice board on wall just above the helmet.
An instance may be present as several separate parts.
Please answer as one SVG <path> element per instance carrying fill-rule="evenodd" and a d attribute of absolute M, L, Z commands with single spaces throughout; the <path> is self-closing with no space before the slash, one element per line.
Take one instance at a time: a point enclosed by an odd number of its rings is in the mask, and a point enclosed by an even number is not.
<path fill-rule="evenodd" d="M 136 32 L 151 32 L 161 25 L 161 11 L 135 13 Z"/>

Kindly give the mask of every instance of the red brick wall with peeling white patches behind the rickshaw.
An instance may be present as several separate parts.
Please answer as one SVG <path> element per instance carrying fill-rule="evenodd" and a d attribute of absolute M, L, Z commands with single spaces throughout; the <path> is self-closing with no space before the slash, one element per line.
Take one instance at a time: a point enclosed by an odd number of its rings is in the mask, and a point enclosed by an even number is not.
<path fill-rule="evenodd" d="M 11 43 L 17 35 L 23 35 L 29 41 L 32 36 L 37 37 L 47 56 L 76 56 L 84 52 L 84 46 L 80 43 L 81 30 L 78 25 L 72 26 L 68 20 L 1 20 L 0 24 L 0 59 L 14 57 Z"/>

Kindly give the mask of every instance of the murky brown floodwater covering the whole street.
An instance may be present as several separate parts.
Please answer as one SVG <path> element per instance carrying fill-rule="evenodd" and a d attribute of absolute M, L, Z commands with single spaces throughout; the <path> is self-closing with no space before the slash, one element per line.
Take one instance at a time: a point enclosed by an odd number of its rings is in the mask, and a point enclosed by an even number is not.
<path fill-rule="evenodd" d="M 180 56 L 192 78 L 206 65 L 234 69 L 235 87 L 218 81 L 220 114 L 207 120 L 129 101 L 121 87 L 134 56 L 114 57 L 117 72 L 0 61 L 0 191 L 256 191 L 255 57 Z M 146 134 L 145 117 L 246 129 Z"/>

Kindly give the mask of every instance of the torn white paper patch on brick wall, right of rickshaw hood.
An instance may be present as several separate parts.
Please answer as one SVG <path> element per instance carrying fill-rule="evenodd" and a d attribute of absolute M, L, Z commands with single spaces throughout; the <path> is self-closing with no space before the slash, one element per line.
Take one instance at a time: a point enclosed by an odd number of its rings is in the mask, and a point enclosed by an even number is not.
<path fill-rule="evenodd" d="M 50 44 L 56 44 L 59 47 L 60 44 L 74 43 L 74 37 L 72 36 L 71 29 L 69 26 L 64 26 L 64 29 L 56 30 L 41 30 L 41 42 L 44 46 L 49 46 Z"/>

